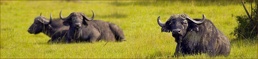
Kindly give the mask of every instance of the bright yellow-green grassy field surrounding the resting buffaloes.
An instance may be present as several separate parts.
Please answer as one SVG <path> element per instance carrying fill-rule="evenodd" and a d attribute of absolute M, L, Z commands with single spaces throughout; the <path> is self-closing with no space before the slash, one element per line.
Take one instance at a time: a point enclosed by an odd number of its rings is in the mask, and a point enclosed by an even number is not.
<path fill-rule="evenodd" d="M 258 58 L 255 40 L 233 40 L 230 35 L 237 26 L 232 15 L 246 14 L 240 1 L 1 1 L 0 58 L 172 58 L 176 42 L 172 33 L 161 32 L 157 17 L 165 22 L 172 14 L 186 13 L 193 19 L 202 14 L 210 19 L 230 40 L 228 57 Z M 250 4 L 246 4 L 250 10 Z M 125 34 L 125 42 L 50 44 L 43 33 L 27 32 L 34 18 L 42 13 L 46 18 L 68 16 L 83 12 L 95 20 L 118 25 Z M 105 45 L 106 44 L 106 45 Z M 105 45 L 105 46 L 104 46 Z M 207 54 L 179 58 L 209 58 Z"/>

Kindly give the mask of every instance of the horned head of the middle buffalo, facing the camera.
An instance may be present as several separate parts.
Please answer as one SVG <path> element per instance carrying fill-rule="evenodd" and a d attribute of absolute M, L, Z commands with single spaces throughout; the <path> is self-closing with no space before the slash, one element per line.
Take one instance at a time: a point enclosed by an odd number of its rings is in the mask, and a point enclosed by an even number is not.
<path fill-rule="evenodd" d="M 91 10 L 91 11 L 93 12 L 93 10 Z M 61 10 L 61 12 L 62 12 L 62 10 Z M 65 21 L 65 22 L 63 22 L 63 24 L 66 26 L 70 26 L 72 28 L 76 28 L 76 29 L 81 28 L 82 24 L 87 25 L 86 21 L 92 21 L 95 16 L 94 12 L 93 12 L 93 16 L 91 18 L 88 18 L 87 16 L 85 16 L 85 14 L 82 12 L 78 12 L 78 13 L 73 12 L 68 17 L 64 18 L 61 15 L 61 12 L 60 12 L 60 18 Z"/>

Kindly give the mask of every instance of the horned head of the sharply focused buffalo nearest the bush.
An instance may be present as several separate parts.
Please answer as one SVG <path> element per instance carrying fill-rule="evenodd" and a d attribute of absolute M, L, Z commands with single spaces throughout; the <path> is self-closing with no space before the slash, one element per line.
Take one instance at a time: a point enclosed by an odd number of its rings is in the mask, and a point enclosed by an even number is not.
<path fill-rule="evenodd" d="M 173 37 L 179 37 L 185 35 L 187 32 L 198 31 L 198 26 L 204 22 L 205 15 L 203 14 L 203 19 L 193 20 L 187 14 L 173 14 L 167 20 L 167 22 L 162 23 L 160 21 L 160 16 L 157 22 L 161 28 L 161 32 L 172 32 Z"/>

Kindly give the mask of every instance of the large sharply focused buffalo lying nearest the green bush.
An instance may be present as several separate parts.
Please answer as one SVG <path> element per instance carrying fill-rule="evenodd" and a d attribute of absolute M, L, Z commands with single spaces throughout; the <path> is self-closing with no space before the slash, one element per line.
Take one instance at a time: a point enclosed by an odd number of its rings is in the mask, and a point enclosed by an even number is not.
<path fill-rule="evenodd" d="M 230 42 L 228 38 L 209 19 L 192 19 L 187 14 L 173 14 L 166 23 L 157 22 L 161 32 L 172 32 L 177 43 L 174 56 L 179 54 L 208 53 L 209 56 L 228 56 Z"/>

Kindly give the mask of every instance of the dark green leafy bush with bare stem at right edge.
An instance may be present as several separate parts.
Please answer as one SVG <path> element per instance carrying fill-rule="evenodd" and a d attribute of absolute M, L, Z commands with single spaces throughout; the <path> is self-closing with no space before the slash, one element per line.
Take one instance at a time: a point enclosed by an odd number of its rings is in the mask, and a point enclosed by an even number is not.
<path fill-rule="evenodd" d="M 247 15 L 235 16 L 238 26 L 235 27 L 234 31 L 231 33 L 238 39 L 257 39 L 257 1 L 245 1 L 245 3 L 255 3 L 255 7 L 251 9 L 251 19 Z"/>

